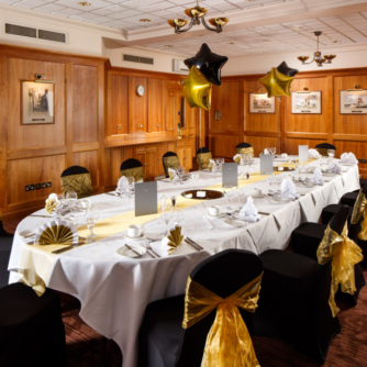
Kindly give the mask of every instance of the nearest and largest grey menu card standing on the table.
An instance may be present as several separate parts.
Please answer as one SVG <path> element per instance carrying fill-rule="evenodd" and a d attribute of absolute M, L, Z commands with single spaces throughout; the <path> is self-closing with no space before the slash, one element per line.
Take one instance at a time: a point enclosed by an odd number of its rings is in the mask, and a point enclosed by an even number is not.
<path fill-rule="evenodd" d="M 135 184 L 135 216 L 158 212 L 157 181 Z"/>

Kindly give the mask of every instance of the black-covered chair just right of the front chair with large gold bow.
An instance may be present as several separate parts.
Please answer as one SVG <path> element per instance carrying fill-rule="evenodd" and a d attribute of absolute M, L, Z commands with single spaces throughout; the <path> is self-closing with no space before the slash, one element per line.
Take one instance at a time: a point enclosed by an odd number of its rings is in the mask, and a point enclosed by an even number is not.
<path fill-rule="evenodd" d="M 341 233 L 347 215 L 348 211 L 337 214 L 332 229 Z M 255 334 L 282 338 L 323 364 L 341 331 L 329 305 L 331 262 L 321 266 L 312 258 L 281 249 L 266 251 L 259 257 L 264 277 Z"/>

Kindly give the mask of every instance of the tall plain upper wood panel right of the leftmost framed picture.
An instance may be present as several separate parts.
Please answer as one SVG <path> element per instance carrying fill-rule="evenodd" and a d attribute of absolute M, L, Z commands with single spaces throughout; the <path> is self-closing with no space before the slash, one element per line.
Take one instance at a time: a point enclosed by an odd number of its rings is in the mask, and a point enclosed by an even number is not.
<path fill-rule="evenodd" d="M 89 143 L 98 140 L 97 73 L 96 66 L 74 66 L 74 143 Z"/>

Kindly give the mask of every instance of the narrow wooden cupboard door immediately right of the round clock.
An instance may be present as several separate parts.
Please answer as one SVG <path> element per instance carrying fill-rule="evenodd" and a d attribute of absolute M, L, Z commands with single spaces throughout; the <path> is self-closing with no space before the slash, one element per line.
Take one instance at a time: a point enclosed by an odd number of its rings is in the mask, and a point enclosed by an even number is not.
<path fill-rule="evenodd" d="M 166 80 L 148 79 L 148 132 L 166 130 Z"/>

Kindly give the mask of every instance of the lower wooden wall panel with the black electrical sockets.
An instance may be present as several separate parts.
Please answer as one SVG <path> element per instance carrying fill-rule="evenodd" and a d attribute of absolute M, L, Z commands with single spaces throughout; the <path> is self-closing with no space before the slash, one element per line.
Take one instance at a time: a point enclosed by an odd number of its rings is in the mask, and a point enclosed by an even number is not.
<path fill-rule="evenodd" d="M 10 160 L 8 163 L 8 204 L 26 203 L 62 192 L 60 175 L 65 168 L 65 155 Z M 52 181 L 52 187 L 25 191 L 25 185 Z"/>

